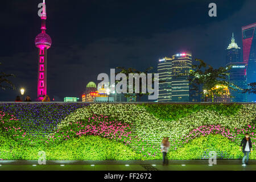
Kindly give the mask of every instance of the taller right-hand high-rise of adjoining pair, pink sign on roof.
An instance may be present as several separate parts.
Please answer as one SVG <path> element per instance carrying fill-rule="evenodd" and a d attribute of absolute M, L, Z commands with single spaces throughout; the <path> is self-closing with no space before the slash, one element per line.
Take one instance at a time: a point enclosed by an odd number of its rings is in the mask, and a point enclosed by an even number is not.
<path fill-rule="evenodd" d="M 192 69 L 191 53 L 172 56 L 172 102 L 189 102 L 189 72 Z"/>

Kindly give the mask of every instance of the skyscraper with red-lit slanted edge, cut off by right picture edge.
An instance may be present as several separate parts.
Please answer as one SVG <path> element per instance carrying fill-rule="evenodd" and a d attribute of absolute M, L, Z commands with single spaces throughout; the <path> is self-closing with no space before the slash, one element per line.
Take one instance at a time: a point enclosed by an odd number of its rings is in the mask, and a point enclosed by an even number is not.
<path fill-rule="evenodd" d="M 242 27 L 243 62 L 247 64 L 247 84 L 256 82 L 256 23 Z M 256 102 L 256 94 L 247 95 L 248 102 Z"/>

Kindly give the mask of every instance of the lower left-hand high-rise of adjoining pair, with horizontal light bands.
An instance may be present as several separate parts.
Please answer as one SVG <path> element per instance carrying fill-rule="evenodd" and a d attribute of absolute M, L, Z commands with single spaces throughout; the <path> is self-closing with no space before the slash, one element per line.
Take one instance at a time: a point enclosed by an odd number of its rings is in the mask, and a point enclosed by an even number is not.
<path fill-rule="evenodd" d="M 159 94 L 158 102 L 172 101 L 172 58 L 164 57 L 158 63 Z"/>

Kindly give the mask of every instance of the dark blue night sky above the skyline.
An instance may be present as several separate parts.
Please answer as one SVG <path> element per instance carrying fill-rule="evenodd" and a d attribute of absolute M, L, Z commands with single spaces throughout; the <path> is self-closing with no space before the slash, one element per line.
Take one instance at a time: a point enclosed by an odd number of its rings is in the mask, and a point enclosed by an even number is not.
<path fill-rule="evenodd" d="M 0 101 L 14 101 L 21 87 L 36 98 L 40 2 L 1 1 L 0 71 L 16 75 L 11 81 L 17 89 L 0 91 Z M 217 17 L 208 16 L 211 2 Z M 81 97 L 86 84 L 110 68 L 156 72 L 159 58 L 179 52 L 224 66 L 232 32 L 242 48 L 241 27 L 256 22 L 255 0 L 46 0 L 46 5 L 52 38 L 47 92 L 56 101 Z"/>

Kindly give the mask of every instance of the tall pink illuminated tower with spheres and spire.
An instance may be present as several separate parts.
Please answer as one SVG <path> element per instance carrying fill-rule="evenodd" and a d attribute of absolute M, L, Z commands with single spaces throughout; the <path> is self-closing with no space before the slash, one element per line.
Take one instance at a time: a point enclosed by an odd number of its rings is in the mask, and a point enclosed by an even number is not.
<path fill-rule="evenodd" d="M 45 1 L 43 0 L 45 5 Z M 52 45 L 51 37 L 46 34 L 46 6 L 43 6 L 41 14 L 42 32 L 35 38 L 35 46 L 38 48 L 38 100 L 47 95 L 47 49 Z"/>

